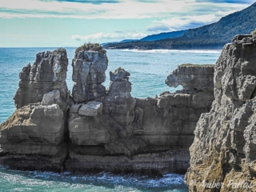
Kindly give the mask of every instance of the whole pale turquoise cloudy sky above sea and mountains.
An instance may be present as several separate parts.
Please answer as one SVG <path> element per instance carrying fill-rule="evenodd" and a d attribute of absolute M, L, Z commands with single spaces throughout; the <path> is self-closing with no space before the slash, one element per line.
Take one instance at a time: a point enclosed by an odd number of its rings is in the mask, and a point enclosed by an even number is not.
<path fill-rule="evenodd" d="M 203 26 L 254 0 L 0 0 L 0 47 L 77 47 Z"/>

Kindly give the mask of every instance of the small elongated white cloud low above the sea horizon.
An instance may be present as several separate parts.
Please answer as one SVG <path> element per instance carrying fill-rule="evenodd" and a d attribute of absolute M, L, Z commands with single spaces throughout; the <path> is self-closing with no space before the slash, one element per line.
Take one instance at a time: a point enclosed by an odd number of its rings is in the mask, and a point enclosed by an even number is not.
<path fill-rule="evenodd" d="M 120 41 L 123 39 L 140 39 L 146 37 L 147 34 L 143 33 L 97 33 L 97 34 L 87 34 L 87 35 L 80 35 L 80 34 L 75 34 L 71 38 L 76 40 L 76 41 L 89 41 L 89 42 L 94 42 L 94 41 L 100 41 L 102 40 L 115 40 L 115 41 Z"/>

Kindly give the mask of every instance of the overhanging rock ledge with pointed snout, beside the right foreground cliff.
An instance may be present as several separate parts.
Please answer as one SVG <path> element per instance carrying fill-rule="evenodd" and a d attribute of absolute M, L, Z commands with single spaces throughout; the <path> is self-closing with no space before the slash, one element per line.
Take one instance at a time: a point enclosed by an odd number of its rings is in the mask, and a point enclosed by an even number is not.
<path fill-rule="evenodd" d="M 183 90 L 210 90 L 214 87 L 214 65 L 183 64 L 166 78 L 167 86 Z"/>

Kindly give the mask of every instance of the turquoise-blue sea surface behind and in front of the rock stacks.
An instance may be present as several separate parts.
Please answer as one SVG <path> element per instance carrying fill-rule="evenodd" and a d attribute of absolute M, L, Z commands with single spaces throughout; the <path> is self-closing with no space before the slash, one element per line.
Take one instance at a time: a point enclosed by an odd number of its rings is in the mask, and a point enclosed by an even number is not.
<path fill-rule="evenodd" d="M 0 123 L 14 113 L 14 94 L 23 66 L 34 63 L 35 55 L 54 48 L 0 48 Z M 72 58 L 75 48 L 66 48 L 69 58 L 67 84 L 72 89 Z M 155 97 L 163 91 L 180 89 L 165 85 L 168 74 L 182 63 L 214 64 L 220 50 L 107 50 L 109 72 L 122 66 L 130 72 L 135 98 Z M 74 175 L 39 171 L 6 170 L 0 166 L 0 191 L 188 191 L 184 175 L 163 178 L 133 177 L 110 173 Z"/>

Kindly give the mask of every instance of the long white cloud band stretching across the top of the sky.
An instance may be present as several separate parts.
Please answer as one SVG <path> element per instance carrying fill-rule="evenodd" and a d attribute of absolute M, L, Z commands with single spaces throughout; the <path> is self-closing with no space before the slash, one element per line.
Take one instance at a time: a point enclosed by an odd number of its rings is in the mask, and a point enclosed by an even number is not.
<path fill-rule="evenodd" d="M 103 1 L 104 2 L 104 1 Z M 1 0 L 2 18 L 157 18 L 175 14 L 197 14 L 210 11 L 245 8 L 247 5 L 231 3 L 196 2 L 196 0 L 136 1 L 120 0 L 113 3 L 56 2 L 39 0 Z M 207 10 L 206 10 L 207 8 Z M 211 14 L 211 13 L 210 13 Z"/>

